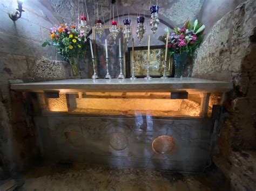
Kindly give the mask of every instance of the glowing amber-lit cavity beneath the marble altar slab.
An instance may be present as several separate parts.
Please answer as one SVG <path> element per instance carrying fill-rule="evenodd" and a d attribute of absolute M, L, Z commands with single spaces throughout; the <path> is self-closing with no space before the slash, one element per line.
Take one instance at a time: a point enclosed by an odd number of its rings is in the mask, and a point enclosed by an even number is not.
<path fill-rule="evenodd" d="M 52 112 L 198 117 L 201 96 L 188 94 L 188 99 L 172 100 L 170 93 L 86 93 L 79 96 L 59 94 L 59 98 L 45 100 L 46 108 Z"/>

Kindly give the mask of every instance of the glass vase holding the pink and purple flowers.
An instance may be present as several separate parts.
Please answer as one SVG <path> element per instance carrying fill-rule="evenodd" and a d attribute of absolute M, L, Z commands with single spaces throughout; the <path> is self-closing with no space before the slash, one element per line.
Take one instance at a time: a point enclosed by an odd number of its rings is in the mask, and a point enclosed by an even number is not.
<path fill-rule="evenodd" d="M 181 77 L 187 60 L 188 53 L 173 54 L 174 77 Z"/>

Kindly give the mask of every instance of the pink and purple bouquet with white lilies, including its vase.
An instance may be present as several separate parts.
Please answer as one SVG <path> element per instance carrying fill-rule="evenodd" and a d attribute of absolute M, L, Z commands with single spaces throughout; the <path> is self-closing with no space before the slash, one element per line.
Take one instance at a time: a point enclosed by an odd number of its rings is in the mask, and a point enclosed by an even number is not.
<path fill-rule="evenodd" d="M 199 24 L 198 20 L 195 20 L 193 25 L 186 20 L 182 28 L 175 27 L 168 37 L 169 55 L 173 56 L 174 61 L 174 77 L 180 77 L 183 74 L 187 55 L 192 56 L 201 44 L 204 29 L 205 25 Z M 165 32 L 169 34 L 168 29 L 165 29 Z"/>

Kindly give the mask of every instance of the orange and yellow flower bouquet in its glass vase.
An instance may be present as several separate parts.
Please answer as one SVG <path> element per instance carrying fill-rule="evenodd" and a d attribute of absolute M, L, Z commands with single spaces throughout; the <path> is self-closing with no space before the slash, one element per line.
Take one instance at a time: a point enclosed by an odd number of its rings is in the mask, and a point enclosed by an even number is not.
<path fill-rule="evenodd" d="M 55 46 L 57 52 L 69 61 L 73 77 L 80 77 L 78 65 L 79 58 L 84 58 L 89 43 L 85 35 L 76 29 L 75 26 L 60 24 L 51 28 L 51 40 L 46 40 L 42 46 Z"/>

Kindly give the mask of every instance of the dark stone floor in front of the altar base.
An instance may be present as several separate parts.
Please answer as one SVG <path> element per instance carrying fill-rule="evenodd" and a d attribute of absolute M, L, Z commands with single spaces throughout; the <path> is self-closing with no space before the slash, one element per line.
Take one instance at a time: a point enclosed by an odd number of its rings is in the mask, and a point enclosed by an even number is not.
<path fill-rule="evenodd" d="M 212 175 L 88 164 L 40 165 L 17 190 L 229 190 Z"/>

